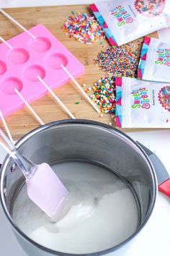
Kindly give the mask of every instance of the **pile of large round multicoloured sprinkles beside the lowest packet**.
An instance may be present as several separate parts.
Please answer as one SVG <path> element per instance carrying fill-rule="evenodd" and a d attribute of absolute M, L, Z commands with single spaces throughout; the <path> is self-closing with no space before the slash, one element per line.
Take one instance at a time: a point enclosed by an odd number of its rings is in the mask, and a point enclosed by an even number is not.
<path fill-rule="evenodd" d="M 94 83 L 91 100 L 99 105 L 102 113 L 115 116 L 115 77 L 106 75 Z"/>

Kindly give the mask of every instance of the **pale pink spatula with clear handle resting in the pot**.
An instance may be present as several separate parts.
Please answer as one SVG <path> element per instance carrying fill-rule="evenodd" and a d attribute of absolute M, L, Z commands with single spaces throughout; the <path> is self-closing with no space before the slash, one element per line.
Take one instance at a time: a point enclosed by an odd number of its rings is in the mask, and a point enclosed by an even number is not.
<path fill-rule="evenodd" d="M 0 144 L 24 174 L 27 195 L 53 221 L 66 212 L 68 190 L 48 163 L 35 164 L 25 158 L 0 129 Z"/>

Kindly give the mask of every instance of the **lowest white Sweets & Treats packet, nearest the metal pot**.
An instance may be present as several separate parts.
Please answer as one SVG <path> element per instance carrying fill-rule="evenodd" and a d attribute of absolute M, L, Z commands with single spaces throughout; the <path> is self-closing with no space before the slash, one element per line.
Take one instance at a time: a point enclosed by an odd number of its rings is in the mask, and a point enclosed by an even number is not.
<path fill-rule="evenodd" d="M 170 83 L 131 77 L 115 82 L 117 127 L 170 127 Z"/>

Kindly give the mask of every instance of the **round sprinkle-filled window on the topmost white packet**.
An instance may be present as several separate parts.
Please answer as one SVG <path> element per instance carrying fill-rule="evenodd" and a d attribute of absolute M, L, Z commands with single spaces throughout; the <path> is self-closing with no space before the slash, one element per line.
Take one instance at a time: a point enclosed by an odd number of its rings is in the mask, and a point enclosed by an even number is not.
<path fill-rule="evenodd" d="M 166 0 L 136 0 L 135 9 L 147 17 L 160 15 L 165 7 Z"/>

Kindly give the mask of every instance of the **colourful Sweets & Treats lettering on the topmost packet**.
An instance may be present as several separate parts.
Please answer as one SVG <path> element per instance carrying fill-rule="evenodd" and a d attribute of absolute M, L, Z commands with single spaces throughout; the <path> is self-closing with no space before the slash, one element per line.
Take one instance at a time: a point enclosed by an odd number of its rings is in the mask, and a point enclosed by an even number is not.
<path fill-rule="evenodd" d="M 121 27 L 122 25 L 125 25 L 127 23 L 133 22 L 133 17 L 130 16 L 130 13 L 128 13 L 125 10 L 125 7 L 122 7 L 121 5 L 115 7 L 110 11 L 110 14 L 115 17 L 117 20 L 117 26 Z"/>

